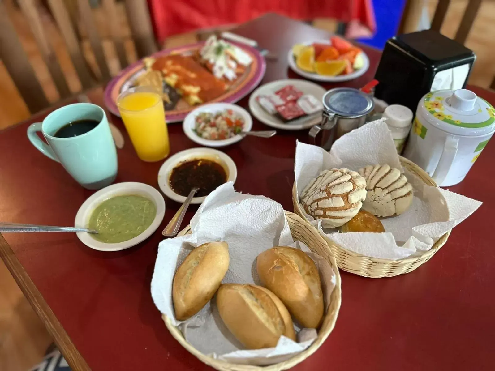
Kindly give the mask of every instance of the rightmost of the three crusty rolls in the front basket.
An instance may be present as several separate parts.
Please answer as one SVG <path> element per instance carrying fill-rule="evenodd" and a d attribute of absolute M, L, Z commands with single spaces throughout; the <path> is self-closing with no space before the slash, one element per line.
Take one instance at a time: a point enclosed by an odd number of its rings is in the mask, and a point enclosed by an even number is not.
<path fill-rule="evenodd" d="M 299 249 L 274 247 L 256 259 L 263 285 L 273 291 L 297 321 L 316 328 L 323 317 L 323 292 L 313 260 Z"/>

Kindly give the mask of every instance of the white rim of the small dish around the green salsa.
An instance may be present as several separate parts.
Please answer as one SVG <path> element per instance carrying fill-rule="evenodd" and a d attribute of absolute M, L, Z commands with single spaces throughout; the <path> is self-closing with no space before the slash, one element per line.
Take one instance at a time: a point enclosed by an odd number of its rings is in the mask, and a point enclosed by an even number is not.
<path fill-rule="evenodd" d="M 156 231 L 163 220 L 163 216 L 165 215 L 165 200 L 163 199 L 161 193 L 158 192 L 158 190 L 153 188 L 151 185 L 136 182 L 112 184 L 94 193 L 86 201 L 84 201 L 84 203 L 79 208 L 79 211 L 76 214 L 74 225 L 76 227 L 86 228 L 88 226 L 91 214 L 100 203 L 107 200 L 108 198 L 125 194 L 137 194 L 140 196 L 144 196 L 149 198 L 155 204 L 156 216 L 153 219 L 151 225 L 146 229 L 146 231 L 134 238 L 118 243 L 101 242 L 93 238 L 90 233 L 86 232 L 76 233 L 82 243 L 95 250 L 119 251 L 137 245 L 138 243 L 147 239 L 153 232 Z"/>

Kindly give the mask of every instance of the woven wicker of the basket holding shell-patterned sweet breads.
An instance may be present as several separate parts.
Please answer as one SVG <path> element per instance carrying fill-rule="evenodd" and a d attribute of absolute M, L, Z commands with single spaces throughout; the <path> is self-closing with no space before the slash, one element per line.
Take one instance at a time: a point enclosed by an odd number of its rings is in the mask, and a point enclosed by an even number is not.
<path fill-rule="evenodd" d="M 433 179 L 418 165 L 402 156 L 399 157 L 400 164 L 404 168 L 415 174 L 425 184 L 437 186 Z M 305 222 L 310 224 L 304 216 L 304 210 L 299 204 L 296 185 L 292 188 L 292 201 L 294 203 L 294 212 L 304 219 Z M 430 250 L 425 251 L 421 256 L 400 260 L 370 258 L 340 247 L 327 236 L 323 235 L 323 238 L 327 241 L 328 247 L 330 247 L 330 251 L 332 251 L 332 255 L 337 259 L 337 265 L 340 269 L 359 276 L 381 278 L 409 273 L 418 268 L 421 264 L 426 263 L 446 243 L 449 234 L 450 231 L 446 232 L 437 242 L 435 242 Z"/>

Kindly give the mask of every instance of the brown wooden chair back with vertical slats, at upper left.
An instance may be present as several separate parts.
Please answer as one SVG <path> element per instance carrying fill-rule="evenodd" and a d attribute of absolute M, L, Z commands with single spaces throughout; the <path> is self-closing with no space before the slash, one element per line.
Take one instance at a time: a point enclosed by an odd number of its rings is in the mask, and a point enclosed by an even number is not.
<path fill-rule="evenodd" d="M 35 1 L 17 0 L 17 3 L 28 21 L 60 98 L 70 96 L 71 92 L 67 81 L 60 68 L 53 46 L 50 44 L 43 28 Z M 63 37 L 83 90 L 110 80 L 110 71 L 103 53 L 101 39 L 95 25 L 89 0 L 48 0 L 48 5 Z M 114 16 L 116 14 L 115 0 L 101 0 L 101 6 L 107 15 L 110 37 L 115 46 L 120 67 L 124 68 L 128 65 L 128 60 L 119 29 L 120 26 Z M 156 51 L 146 0 L 125 0 L 125 9 L 138 56 L 143 57 Z M 77 15 L 79 16 L 88 34 L 91 49 L 98 64 L 98 73 L 89 68 L 83 55 L 80 37 L 69 13 L 69 11 L 73 12 L 74 10 L 78 11 L 76 17 Z M 74 14 L 72 16 L 74 17 Z M 31 113 L 49 106 L 49 101 L 36 78 L 33 67 L 19 41 L 12 22 L 8 18 L 3 0 L 0 0 L 0 59 L 3 61 Z"/>

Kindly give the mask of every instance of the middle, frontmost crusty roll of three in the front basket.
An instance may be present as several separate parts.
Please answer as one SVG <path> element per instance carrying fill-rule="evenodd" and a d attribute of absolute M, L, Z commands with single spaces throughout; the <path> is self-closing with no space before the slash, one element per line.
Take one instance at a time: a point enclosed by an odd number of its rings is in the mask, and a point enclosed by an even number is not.
<path fill-rule="evenodd" d="M 225 283 L 216 302 L 222 321 L 247 349 L 275 347 L 281 335 L 296 340 L 287 308 L 264 287 Z"/>

